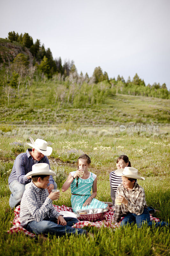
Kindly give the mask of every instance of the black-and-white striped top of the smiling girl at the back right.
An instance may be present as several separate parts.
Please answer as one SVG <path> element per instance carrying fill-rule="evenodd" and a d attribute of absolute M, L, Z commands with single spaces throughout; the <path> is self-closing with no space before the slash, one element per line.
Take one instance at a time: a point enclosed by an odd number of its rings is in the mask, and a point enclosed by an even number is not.
<path fill-rule="evenodd" d="M 122 183 L 122 176 L 118 176 L 117 174 L 115 174 L 115 171 L 110 172 L 109 181 L 110 181 L 110 196 L 114 206 L 117 187 Z"/>

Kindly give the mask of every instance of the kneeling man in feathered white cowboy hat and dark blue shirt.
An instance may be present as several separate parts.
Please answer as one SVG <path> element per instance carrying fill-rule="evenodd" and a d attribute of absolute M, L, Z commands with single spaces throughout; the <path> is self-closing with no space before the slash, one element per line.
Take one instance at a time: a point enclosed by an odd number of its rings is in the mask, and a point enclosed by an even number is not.
<path fill-rule="evenodd" d="M 53 150 L 51 147 L 47 146 L 48 143 L 45 140 L 36 139 L 34 141 L 31 137 L 29 137 L 29 139 L 32 143 L 27 144 L 32 148 L 28 148 L 26 153 L 21 153 L 16 157 L 8 179 L 9 189 L 11 191 L 9 199 L 9 205 L 11 208 L 20 203 L 26 184 L 31 182 L 31 177 L 26 176 L 26 174 L 32 170 L 33 164 L 49 164 L 47 156 L 50 156 Z M 57 184 L 53 180 L 53 177 L 50 176 L 48 192 L 50 193 L 51 189 L 54 188 L 57 188 Z"/>

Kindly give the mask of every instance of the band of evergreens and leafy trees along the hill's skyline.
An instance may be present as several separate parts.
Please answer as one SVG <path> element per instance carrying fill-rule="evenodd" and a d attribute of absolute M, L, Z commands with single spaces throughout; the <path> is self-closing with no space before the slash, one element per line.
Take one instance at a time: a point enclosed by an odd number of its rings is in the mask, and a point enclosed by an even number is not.
<path fill-rule="evenodd" d="M 45 50 L 44 45 L 37 39 L 33 44 L 33 39 L 28 33 L 18 35 L 18 33 L 9 32 L 8 40 L 11 42 L 16 41 L 19 44 L 26 46 L 32 53 L 34 60 L 30 64 L 28 58 L 23 53 L 19 53 L 8 67 L 1 65 L 0 84 L 10 86 L 11 88 L 18 88 L 20 85 L 31 86 L 33 81 L 43 81 L 45 84 L 47 80 L 52 81 L 66 81 L 67 86 L 78 87 L 83 83 L 88 84 L 90 87 L 95 87 L 95 84 L 100 84 L 100 88 L 105 90 L 112 90 L 112 93 L 122 93 L 129 95 L 141 95 L 149 97 L 158 97 L 163 99 L 169 98 L 169 92 L 166 84 L 148 84 L 146 85 L 137 74 L 131 79 L 128 77 L 127 81 L 123 76 L 118 75 L 117 78 L 108 78 L 107 72 L 103 72 L 100 67 L 94 69 L 92 77 L 86 73 L 83 76 L 77 72 L 74 61 L 65 61 L 62 65 L 61 57 L 53 60 L 52 53 L 48 48 Z M 69 85 L 68 85 L 69 84 Z M 107 88 L 106 85 L 107 84 Z M 97 88 L 97 87 L 96 87 Z M 73 90 L 74 91 L 74 90 Z M 99 95 L 98 95 L 99 96 Z M 100 97 L 101 99 L 101 97 Z M 88 100 L 87 100 L 88 101 Z M 71 100 L 73 103 L 73 100 Z"/>

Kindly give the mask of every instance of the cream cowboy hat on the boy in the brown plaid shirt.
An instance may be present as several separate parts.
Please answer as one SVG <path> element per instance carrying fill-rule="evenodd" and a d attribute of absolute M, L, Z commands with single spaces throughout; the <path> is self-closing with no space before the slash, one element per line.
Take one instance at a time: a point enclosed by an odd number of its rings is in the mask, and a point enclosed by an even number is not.
<path fill-rule="evenodd" d="M 133 167 L 129 167 L 126 166 L 124 169 L 118 169 L 115 171 L 115 174 L 120 175 L 120 176 L 124 176 L 124 177 L 128 177 L 128 178 L 134 178 L 134 179 L 138 179 L 138 180 L 145 180 L 144 177 L 140 177 L 138 176 L 137 173 L 138 170 L 133 168 Z"/>

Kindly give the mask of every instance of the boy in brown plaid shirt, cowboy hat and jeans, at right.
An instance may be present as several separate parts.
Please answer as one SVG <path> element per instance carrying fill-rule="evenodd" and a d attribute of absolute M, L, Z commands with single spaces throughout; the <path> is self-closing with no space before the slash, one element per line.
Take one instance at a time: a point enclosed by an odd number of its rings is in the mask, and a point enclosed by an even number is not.
<path fill-rule="evenodd" d="M 121 226 L 137 224 L 141 228 L 144 223 L 152 226 L 150 214 L 145 201 L 144 189 L 136 183 L 136 180 L 145 180 L 138 175 L 138 170 L 133 167 L 118 169 L 115 173 L 122 176 L 122 183 L 118 186 L 115 200 L 115 222 L 119 222 L 121 217 Z M 167 222 L 156 222 L 155 226 L 169 226 Z"/>

